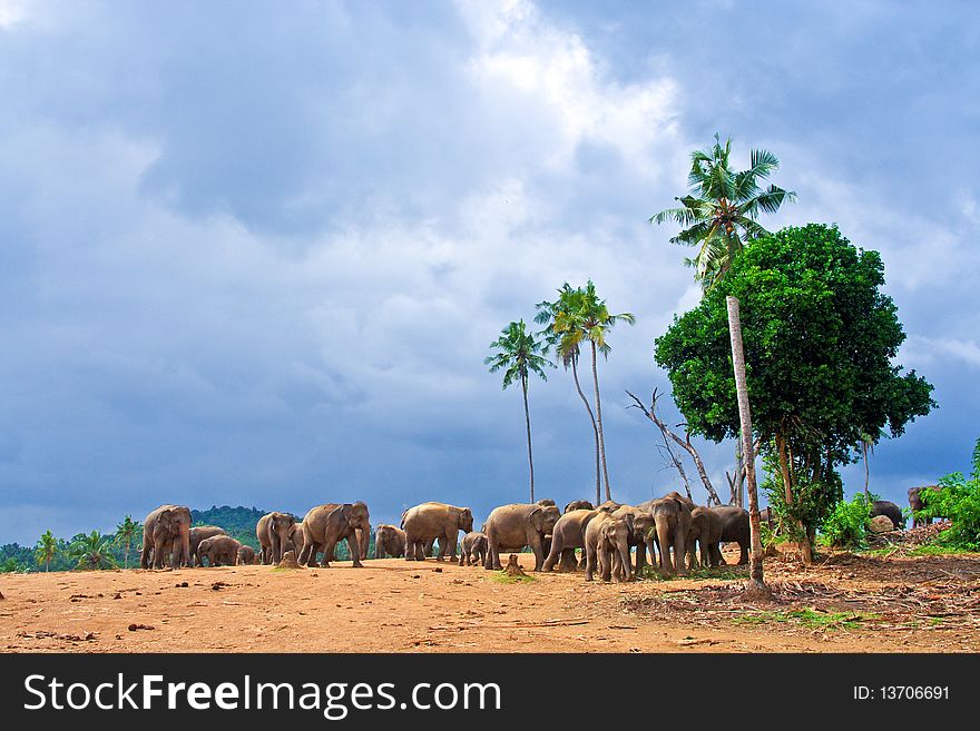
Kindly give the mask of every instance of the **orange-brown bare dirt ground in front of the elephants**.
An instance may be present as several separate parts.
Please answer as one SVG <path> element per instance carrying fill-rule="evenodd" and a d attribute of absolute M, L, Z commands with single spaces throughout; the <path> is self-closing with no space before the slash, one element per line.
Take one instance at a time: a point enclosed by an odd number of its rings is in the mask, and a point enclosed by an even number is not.
<path fill-rule="evenodd" d="M 733 556 L 727 555 L 729 561 Z M 522 554 L 525 569 L 533 556 Z M 696 579 L 587 583 L 429 560 L 6 574 L 4 652 L 978 652 L 980 556 L 767 559 Z"/>

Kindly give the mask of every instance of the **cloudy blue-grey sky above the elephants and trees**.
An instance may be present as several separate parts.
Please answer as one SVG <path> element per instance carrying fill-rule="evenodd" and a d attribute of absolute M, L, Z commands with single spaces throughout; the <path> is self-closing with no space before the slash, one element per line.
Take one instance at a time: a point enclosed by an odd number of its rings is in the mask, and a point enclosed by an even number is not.
<path fill-rule="evenodd" d="M 715 131 L 780 157 L 768 227 L 882 253 L 940 404 L 875 451 L 904 504 L 980 436 L 977 58 L 966 2 L 0 0 L 0 543 L 165 502 L 480 520 L 527 494 L 488 345 L 589 277 L 637 316 L 600 364 L 614 496 L 674 488 L 624 389 L 667 389 L 698 292 L 647 218 Z M 590 495 L 570 377 L 530 397 L 539 494 Z"/>

